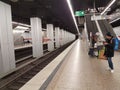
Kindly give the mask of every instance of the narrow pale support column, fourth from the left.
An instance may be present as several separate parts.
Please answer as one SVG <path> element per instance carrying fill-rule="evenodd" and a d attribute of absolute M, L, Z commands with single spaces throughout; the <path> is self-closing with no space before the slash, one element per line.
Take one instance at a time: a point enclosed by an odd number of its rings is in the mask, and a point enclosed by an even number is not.
<path fill-rule="evenodd" d="M 55 28 L 55 47 L 56 48 L 60 47 L 60 28 L 59 27 Z"/>

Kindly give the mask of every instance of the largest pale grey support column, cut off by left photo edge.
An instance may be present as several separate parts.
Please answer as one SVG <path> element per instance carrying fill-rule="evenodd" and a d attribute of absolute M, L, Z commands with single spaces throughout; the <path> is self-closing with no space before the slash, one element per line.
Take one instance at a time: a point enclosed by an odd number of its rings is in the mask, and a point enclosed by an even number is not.
<path fill-rule="evenodd" d="M 15 67 L 11 6 L 0 1 L 0 78 Z"/>

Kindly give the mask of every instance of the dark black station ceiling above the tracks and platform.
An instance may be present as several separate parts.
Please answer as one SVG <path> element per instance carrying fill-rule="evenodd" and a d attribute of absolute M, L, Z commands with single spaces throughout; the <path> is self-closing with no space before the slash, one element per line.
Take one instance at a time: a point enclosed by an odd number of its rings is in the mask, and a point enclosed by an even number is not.
<path fill-rule="evenodd" d="M 30 17 L 40 17 L 43 27 L 47 23 L 77 33 L 66 0 L 1 0 L 11 5 L 13 21 L 30 24 Z M 13 2 L 16 1 L 16 2 Z M 71 0 L 74 11 L 105 7 L 110 0 Z"/>

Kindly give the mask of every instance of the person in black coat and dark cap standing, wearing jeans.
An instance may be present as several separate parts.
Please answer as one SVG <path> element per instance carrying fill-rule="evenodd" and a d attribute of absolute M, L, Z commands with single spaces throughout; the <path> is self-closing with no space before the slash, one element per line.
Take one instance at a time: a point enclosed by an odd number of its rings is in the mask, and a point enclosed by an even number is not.
<path fill-rule="evenodd" d="M 113 73 L 114 66 L 112 62 L 112 57 L 114 57 L 114 39 L 110 32 L 106 34 L 106 41 L 103 43 L 105 45 L 105 53 L 104 55 L 107 57 L 109 70 Z"/>

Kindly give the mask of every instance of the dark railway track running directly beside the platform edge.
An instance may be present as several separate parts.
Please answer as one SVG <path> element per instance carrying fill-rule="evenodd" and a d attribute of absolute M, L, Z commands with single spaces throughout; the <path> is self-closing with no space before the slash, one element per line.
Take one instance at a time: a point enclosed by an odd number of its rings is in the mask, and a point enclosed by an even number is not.
<path fill-rule="evenodd" d="M 71 42 L 72 43 L 72 42 Z M 8 75 L 0 80 L 0 90 L 18 90 L 33 76 L 48 65 L 57 55 L 66 49 L 71 43 L 62 46 L 59 49 L 49 53 L 46 56 L 26 65 L 20 70 Z"/>

